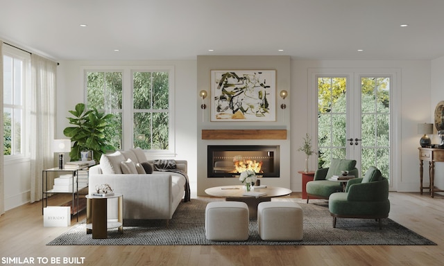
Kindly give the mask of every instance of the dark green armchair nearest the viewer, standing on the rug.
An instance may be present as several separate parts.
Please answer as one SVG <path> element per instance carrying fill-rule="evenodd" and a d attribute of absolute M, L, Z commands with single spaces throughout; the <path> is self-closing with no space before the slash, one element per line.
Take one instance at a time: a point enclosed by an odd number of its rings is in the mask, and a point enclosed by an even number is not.
<path fill-rule="evenodd" d="M 364 177 L 348 181 L 345 192 L 330 195 L 328 209 L 333 216 L 333 227 L 336 218 L 364 218 L 379 221 L 382 229 L 381 220 L 390 211 L 388 180 L 379 169 L 370 166 Z"/>

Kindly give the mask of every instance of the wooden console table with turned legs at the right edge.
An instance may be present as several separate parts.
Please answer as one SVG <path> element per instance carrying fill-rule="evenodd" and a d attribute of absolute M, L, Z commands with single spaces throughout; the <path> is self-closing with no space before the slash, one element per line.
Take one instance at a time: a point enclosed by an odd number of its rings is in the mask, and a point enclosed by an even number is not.
<path fill-rule="evenodd" d="M 419 150 L 419 176 L 420 176 L 420 192 L 422 195 L 423 189 L 428 189 L 432 197 L 435 196 L 435 192 L 444 192 L 439 188 L 435 187 L 435 161 L 444 162 L 444 149 L 438 148 L 418 148 Z M 429 162 L 429 187 L 422 185 L 422 177 L 424 171 L 424 161 Z"/>

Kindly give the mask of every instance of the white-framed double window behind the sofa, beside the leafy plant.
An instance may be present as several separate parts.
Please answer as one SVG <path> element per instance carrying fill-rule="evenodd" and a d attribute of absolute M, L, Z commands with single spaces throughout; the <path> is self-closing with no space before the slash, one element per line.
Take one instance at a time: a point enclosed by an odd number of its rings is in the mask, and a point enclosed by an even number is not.
<path fill-rule="evenodd" d="M 88 69 L 87 107 L 114 114 L 107 134 L 117 149 L 140 147 L 148 153 L 172 155 L 173 78 L 173 67 Z"/>

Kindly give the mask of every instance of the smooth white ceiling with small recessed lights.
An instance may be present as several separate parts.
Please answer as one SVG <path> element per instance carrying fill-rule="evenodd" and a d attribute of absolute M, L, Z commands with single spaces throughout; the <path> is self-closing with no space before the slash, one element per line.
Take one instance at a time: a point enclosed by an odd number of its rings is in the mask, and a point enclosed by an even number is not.
<path fill-rule="evenodd" d="M 0 0 L 0 38 L 54 60 L 432 60 L 443 12 L 443 0 Z"/>

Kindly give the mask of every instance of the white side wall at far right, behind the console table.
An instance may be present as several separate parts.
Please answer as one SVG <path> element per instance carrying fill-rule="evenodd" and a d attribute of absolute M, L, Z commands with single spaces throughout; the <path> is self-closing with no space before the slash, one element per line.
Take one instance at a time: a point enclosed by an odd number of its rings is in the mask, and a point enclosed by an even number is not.
<path fill-rule="evenodd" d="M 432 60 L 432 89 L 430 90 L 429 123 L 434 123 L 434 112 L 436 105 L 444 100 L 444 56 Z M 434 127 L 434 135 L 431 136 L 432 143 L 441 143 Z M 427 174 L 425 175 L 427 177 Z M 435 163 L 435 185 L 444 189 L 444 163 Z"/>

